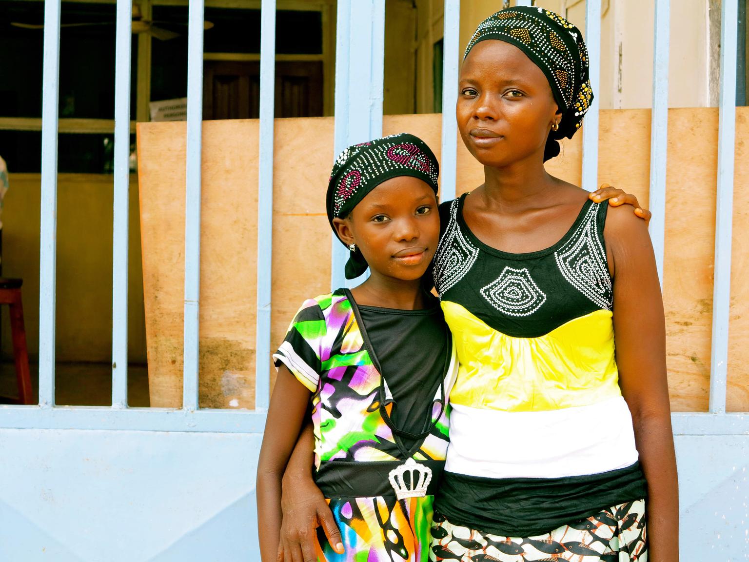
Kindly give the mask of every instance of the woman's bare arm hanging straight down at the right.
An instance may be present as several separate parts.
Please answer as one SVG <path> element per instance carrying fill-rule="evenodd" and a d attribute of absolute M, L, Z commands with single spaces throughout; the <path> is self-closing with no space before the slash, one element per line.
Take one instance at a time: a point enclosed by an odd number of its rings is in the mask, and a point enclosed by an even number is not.
<path fill-rule="evenodd" d="M 666 375 L 661 285 L 646 223 L 610 208 L 604 229 L 613 282 L 616 363 L 648 481 L 649 560 L 679 561 L 679 485 Z"/>

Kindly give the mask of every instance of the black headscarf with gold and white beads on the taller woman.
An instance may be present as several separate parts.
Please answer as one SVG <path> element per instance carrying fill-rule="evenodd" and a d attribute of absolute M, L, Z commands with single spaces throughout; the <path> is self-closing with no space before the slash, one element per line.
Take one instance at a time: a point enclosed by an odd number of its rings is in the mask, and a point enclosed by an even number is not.
<path fill-rule="evenodd" d="M 583 34 L 556 13 L 542 7 L 518 6 L 500 10 L 476 28 L 463 58 L 479 41 L 512 43 L 543 70 L 562 113 L 559 130 L 546 141 L 544 160 L 560 153 L 559 139 L 571 139 L 593 100 L 588 50 Z"/>

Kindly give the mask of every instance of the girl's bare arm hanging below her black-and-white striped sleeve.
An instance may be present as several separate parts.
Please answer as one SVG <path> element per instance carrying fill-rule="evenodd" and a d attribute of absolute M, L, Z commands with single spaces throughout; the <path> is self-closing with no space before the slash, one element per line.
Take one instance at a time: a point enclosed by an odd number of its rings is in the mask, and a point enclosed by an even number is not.
<path fill-rule="evenodd" d="M 258 460 L 258 537 L 260 558 L 276 562 L 281 529 L 281 480 L 305 421 L 310 392 L 286 368 L 279 366 L 270 397 L 263 445 Z M 288 562 L 291 562 L 288 558 Z"/>

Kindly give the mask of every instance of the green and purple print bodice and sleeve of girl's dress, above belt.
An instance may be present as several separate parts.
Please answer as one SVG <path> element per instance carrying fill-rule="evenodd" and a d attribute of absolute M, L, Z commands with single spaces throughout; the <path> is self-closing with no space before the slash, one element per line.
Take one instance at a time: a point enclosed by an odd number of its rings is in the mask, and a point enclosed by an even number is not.
<path fill-rule="evenodd" d="M 401 459 L 392 429 L 380 415 L 380 373 L 343 291 L 306 300 L 273 359 L 276 366 L 285 364 L 312 392 L 317 468 L 332 460 Z M 386 398 L 392 398 L 387 384 L 385 393 Z M 433 416 L 440 415 L 442 409 L 434 404 Z M 449 421 L 444 409 L 413 459 L 445 458 Z"/>

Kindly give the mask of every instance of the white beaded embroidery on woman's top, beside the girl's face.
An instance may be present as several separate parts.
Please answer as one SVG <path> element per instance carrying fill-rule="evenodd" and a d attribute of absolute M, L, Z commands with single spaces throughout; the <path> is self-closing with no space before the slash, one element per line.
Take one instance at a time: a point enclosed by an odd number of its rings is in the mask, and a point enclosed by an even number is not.
<path fill-rule="evenodd" d="M 459 202 L 455 199 L 450 204 L 450 220 L 434 258 L 434 287 L 440 297 L 465 277 L 479 256 L 479 249 L 467 241 L 458 226 Z"/>

